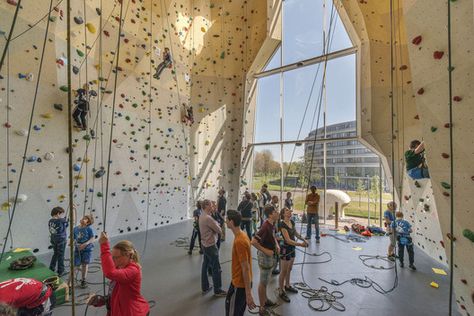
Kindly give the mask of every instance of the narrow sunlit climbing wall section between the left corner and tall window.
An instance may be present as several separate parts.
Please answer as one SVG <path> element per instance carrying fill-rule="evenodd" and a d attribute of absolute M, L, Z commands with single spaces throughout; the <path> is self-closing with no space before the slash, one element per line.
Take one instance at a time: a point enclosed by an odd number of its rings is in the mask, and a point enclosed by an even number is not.
<path fill-rule="evenodd" d="M 245 76 L 267 31 L 265 1 L 211 1 L 197 7 L 191 101 L 193 190 L 197 198 L 228 193 L 228 207 L 240 200 L 240 155 Z"/>

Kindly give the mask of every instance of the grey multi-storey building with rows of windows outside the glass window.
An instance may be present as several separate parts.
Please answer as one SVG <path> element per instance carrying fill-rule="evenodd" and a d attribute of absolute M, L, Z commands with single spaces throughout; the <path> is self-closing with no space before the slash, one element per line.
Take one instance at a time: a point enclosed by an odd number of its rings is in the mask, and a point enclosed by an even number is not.
<path fill-rule="evenodd" d="M 326 126 L 326 138 L 356 137 L 356 122 L 348 121 Z M 306 140 L 324 138 L 324 128 L 309 133 Z M 308 168 L 312 162 L 311 182 L 323 186 L 324 145 L 306 142 L 304 161 Z M 327 187 L 355 190 L 359 179 L 379 175 L 379 157 L 358 140 L 337 140 L 326 143 Z M 364 182 L 365 183 L 365 182 Z"/>

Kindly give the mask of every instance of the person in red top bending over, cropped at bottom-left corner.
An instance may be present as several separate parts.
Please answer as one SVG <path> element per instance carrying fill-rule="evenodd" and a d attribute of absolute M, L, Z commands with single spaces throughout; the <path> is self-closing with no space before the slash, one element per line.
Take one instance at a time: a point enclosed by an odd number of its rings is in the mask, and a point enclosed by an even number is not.
<path fill-rule="evenodd" d="M 50 315 L 54 307 L 53 289 L 30 278 L 15 278 L 0 283 L 0 303 L 18 309 L 21 316 Z"/>

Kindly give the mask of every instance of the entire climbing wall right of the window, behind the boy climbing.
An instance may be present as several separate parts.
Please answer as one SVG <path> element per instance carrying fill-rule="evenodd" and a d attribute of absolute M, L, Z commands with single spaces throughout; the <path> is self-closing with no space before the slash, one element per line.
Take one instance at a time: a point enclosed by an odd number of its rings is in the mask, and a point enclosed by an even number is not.
<path fill-rule="evenodd" d="M 383 1 L 342 3 L 347 13 L 342 17 L 354 29 L 360 47 L 358 118 L 362 138 L 385 156 L 384 165 L 391 169 L 402 210 L 414 224 L 416 244 L 445 265 L 450 263 L 448 233 L 454 194 L 455 294 L 460 310 L 472 314 L 473 217 L 469 192 L 474 147 L 465 141 L 473 133 L 472 110 L 467 106 L 472 101 L 473 3 L 451 1 L 456 47 L 451 69 L 454 183 L 449 181 L 447 2 L 393 1 L 392 12 L 389 3 Z M 415 183 L 407 177 L 403 153 L 413 139 L 425 141 L 430 180 Z"/>

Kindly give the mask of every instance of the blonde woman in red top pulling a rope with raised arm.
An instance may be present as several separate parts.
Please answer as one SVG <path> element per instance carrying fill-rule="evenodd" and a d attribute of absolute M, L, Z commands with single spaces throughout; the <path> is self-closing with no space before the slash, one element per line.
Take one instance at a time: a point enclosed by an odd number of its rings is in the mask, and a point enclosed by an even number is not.
<path fill-rule="evenodd" d="M 108 316 L 146 316 L 150 307 L 140 293 L 142 270 L 138 253 L 133 244 L 123 240 L 110 251 L 107 233 L 99 238 L 102 272 L 109 279 L 109 294 L 106 297 L 94 295 L 89 305 L 106 305 Z"/>

